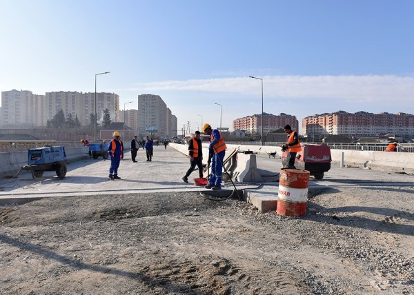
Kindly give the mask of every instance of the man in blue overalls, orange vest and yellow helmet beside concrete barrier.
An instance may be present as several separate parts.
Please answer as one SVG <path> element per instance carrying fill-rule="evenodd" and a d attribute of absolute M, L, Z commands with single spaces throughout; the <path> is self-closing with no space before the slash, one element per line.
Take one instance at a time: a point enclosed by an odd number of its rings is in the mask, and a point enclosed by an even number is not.
<path fill-rule="evenodd" d="M 211 175 L 206 188 L 221 190 L 221 178 L 223 177 L 223 160 L 226 154 L 226 143 L 219 130 L 213 130 L 208 123 L 204 123 L 202 128 L 204 134 L 210 135 L 208 145 L 208 165 L 211 163 Z"/>

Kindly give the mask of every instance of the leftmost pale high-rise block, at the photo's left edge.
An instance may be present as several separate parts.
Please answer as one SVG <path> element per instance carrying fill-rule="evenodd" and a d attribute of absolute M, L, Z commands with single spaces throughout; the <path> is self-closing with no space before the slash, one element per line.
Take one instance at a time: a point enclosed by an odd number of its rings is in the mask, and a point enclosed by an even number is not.
<path fill-rule="evenodd" d="M 1 92 L 2 128 L 33 128 L 45 126 L 45 96 L 33 94 L 28 90 L 10 90 Z"/>

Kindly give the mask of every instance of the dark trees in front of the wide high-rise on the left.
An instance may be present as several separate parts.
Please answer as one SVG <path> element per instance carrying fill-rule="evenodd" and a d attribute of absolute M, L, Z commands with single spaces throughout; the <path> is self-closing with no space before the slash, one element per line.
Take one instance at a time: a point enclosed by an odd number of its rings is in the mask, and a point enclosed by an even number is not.
<path fill-rule="evenodd" d="M 96 122 L 95 114 L 90 114 L 89 120 L 90 120 L 89 126 L 93 127 Z M 110 112 L 108 108 L 106 108 L 105 110 L 103 110 L 102 126 L 108 127 L 110 123 L 112 123 L 110 119 Z M 75 118 L 70 113 L 65 116 L 65 113 L 63 112 L 63 110 L 59 110 L 59 112 L 57 112 L 55 116 L 53 116 L 52 119 L 46 121 L 46 128 L 61 129 L 61 128 L 80 128 L 80 127 L 81 127 L 81 122 L 79 121 L 77 114 L 75 114 Z"/>

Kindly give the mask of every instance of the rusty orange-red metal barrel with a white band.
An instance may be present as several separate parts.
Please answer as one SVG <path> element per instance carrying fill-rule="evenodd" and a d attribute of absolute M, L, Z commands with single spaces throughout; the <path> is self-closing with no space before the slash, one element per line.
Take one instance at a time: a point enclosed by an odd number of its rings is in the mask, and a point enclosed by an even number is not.
<path fill-rule="evenodd" d="M 280 170 L 277 214 L 286 216 L 306 214 L 309 174 L 306 170 Z"/>

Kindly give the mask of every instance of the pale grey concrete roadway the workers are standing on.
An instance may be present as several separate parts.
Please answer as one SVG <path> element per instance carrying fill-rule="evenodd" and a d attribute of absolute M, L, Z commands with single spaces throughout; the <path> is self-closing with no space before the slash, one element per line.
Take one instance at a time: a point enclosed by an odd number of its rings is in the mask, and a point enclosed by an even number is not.
<path fill-rule="evenodd" d="M 39 179 L 32 179 L 30 172 L 21 171 L 14 179 L 0 180 L 0 205 L 24 203 L 32 199 L 50 196 L 91 196 L 100 194 L 138 194 L 148 192 L 201 192 L 204 187 L 196 187 L 193 183 L 184 183 L 184 176 L 189 167 L 188 157 L 171 147 L 154 147 L 154 156 L 151 162 L 146 161 L 146 153 L 140 149 L 137 163 L 133 163 L 130 152 L 126 152 L 124 161 L 121 161 L 118 174 L 121 180 L 109 181 L 109 160 L 86 159 L 68 164 L 68 173 L 65 179 L 57 178 L 55 172 L 44 172 Z M 282 167 L 279 159 L 269 159 L 265 155 L 257 155 L 257 167 L 267 174 L 277 174 Z M 195 171 L 189 181 L 198 177 Z M 311 176 L 312 178 L 312 176 Z M 322 181 L 312 180 L 310 190 L 315 187 L 364 186 L 370 183 L 384 186 L 413 186 L 414 176 L 409 174 L 395 174 L 394 172 L 363 170 L 355 168 L 340 168 L 333 166 L 326 172 Z M 245 190 L 245 195 L 254 199 L 259 196 L 260 206 L 265 203 L 275 205 L 278 183 L 264 183 L 259 189 L 257 184 L 237 184 L 238 189 Z M 228 183 L 225 188 L 233 190 Z M 262 202 L 262 203 L 260 203 Z M 266 209 L 264 210 L 266 211 Z"/>

